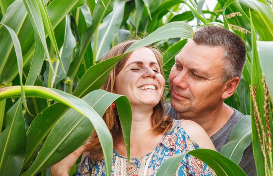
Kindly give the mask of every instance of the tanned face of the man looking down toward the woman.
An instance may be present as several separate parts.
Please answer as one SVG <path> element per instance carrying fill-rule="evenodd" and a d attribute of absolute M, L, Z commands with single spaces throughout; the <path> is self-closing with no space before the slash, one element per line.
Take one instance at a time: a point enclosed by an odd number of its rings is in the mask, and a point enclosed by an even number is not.
<path fill-rule="evenodd" d="M 182 118 L 213 112 L 222 104 L 223 51 L 189 40 L 175 57 L 170 72 L 171 105 Z"/>

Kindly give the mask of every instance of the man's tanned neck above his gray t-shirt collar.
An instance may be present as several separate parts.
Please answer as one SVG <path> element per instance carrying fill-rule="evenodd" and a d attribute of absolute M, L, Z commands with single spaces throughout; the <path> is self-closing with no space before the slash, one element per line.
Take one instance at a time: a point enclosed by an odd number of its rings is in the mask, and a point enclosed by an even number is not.
<path fill-rule="evenodd" d="M 178 113 L 177 119 L 192 120 L 198 123 L 212 137 L 228 122 L 233 113 L 233 109 L 223 103 L 214 111 L 204 112 L 196 116 L 185 116 Z"/>

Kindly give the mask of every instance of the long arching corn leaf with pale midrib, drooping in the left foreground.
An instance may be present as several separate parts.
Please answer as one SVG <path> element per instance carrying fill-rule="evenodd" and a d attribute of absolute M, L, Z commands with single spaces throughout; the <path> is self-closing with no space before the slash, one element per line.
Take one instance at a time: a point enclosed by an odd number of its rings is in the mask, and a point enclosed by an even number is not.
<path fill-rule="evenodd" d="M 105 157 L 106 172 L 108 175 L 110 175 L 112 155 L 113 155 L 112 136 L 105 122 L 97 114 L 97 112 L 94 111 L 93 108 L 91 108 L 85 101 L 56 89 L 47 89 L 46 87 L 41 87 L 41 86 L 24 86 L 24 91 L 27 97 L 47 98 L 47 99 L 59 101 L 67 106 L 74 108 L 76 111 L 86 116 L 91 121 L 92 125 L 94 126 L 98 134 L 98 137 L 102 146 L 102 151 Z M 20 95 L 21 95 L 21 91 L 19 86 L 11 86 L 11 87 L 6 87 L 4 89 L 0 89 L 0 100 L 6 99 L 9 97 L 19 97 Z M 30 168 L 23 175 L 35 174 L 48 159 L 48 158 L 42 158 L 41 160 L 37 160 L 37 158 L 32 163 Z"/>

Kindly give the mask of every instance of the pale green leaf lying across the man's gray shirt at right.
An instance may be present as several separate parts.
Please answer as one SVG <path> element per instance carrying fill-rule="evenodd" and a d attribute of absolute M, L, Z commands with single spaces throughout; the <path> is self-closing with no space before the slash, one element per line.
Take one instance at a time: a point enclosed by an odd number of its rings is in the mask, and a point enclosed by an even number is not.
<path fill-rule="evenodd" d="M 251 117 L 244 116 L 233 128 L 228 143 L 222 146 L 221 154 L 239 164 L 251 143 L 251 131 Z"/>

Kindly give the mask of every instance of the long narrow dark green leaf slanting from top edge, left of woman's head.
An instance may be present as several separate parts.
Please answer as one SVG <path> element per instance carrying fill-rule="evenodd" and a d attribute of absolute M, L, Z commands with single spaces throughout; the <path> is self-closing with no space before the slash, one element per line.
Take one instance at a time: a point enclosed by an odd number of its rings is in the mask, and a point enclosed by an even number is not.
<path fill-rule="evenodd" d="M 69 71 L 67 72 L 67 79 L 73 80 L 77 74 L 77 71 L 82 63 L 82 60 L 84 58 L 84 54 L 88 46 L 90 45 L 90 42 L 92 40 L 92 36 L 94 35 L 95 31 L 98 29 L 98 26 L 104 17 L 104 14 L 107 11 L 107 8 L 111 4 L 110 0 L 105 1 L 98 1 L 98 3 L 95 6 L 94 9 L 94 15 L 92 19 L 92 24 L 89 28 L 85 30 L 85 32 L 82 35 L 81 39 L 81 49 L 80 54 L 76 60 L 70 65 Z"/>

